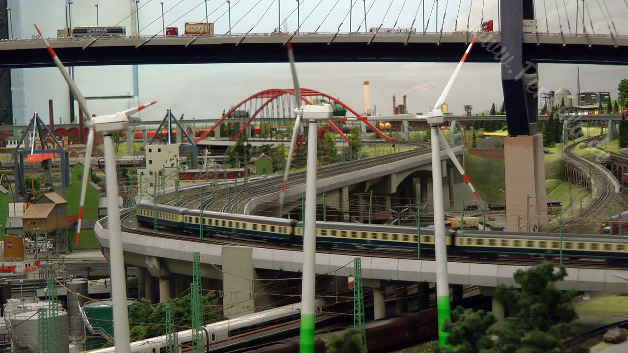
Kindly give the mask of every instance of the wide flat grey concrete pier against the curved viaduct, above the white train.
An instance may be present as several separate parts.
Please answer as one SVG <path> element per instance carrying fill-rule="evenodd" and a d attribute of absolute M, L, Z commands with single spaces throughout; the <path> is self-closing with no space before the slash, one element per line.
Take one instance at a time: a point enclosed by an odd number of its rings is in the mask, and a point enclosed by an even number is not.
<path fill-rule="evenodd" d="M 225 317 L 234 318 L 255 311 L 253 250 L 244 246 L 222 247 L 222 288 Z"/>

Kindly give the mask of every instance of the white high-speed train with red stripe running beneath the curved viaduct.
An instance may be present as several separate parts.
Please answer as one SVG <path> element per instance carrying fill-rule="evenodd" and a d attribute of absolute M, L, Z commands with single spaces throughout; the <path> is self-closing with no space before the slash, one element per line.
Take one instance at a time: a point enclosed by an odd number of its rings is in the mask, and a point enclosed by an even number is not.
<path fill-rule="evenodd" d="M 331 300 L 324 298 L 316 301 L 317 322 L 333 317 L 332 313 L 325 311 L 327 305 L 330 304 Z M 300 317 L 301 303 L 295 303 L 229 320 L 209 323 L 202 328 L 203 349 L 199 350 L 199 352 L 224 350 L 227 347 L 234 347 L 263 337 L 271 337 L 287 330 L 298 329 Z M 177 332 L 175 341 L 176 352 L 192 352 L 192 330 Z M 131 343 L 131 352 L 166 352 L 166 342 L 168 342 L 166 335 L 136 341 Z M 116 352 L 116 347 L 90 350 L 90 353 L 114 352 Z"/>

